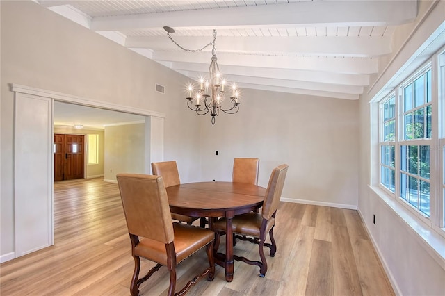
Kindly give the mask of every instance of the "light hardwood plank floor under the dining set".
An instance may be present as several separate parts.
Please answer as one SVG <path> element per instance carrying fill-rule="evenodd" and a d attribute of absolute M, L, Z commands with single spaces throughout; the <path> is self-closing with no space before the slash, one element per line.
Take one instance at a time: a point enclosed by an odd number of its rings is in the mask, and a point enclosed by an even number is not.
<path fill-rule="evenodd" d="M 133 258 L 116 183 L 55 183 L 54 229 L 54 246 L 1 264 L 1 295 L 129 295 Z M 227 283 L 217 266 L 215 279 L 188 295 L 394 295 L 357 211 L 282 202 L 274 233 L 265 278 L 236 262 Z M 250 242 L 238 241 L 234 252 L 259 258 Z M 177 288 L 206 264 L 204 251 L 182 262 Z M 152 266 L 143 261 L 141 274 Z M 168 281 L 161 268 L 140 295 L 165 295 Z"/>

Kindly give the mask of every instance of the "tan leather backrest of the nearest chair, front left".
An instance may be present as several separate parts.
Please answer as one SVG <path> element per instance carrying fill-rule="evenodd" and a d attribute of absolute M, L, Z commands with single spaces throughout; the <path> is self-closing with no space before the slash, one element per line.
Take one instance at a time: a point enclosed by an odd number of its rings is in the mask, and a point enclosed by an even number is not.
<path fill-rule="evenodd" d="M 162 177 L 118 174 L 116 178 L 129 233 L 165 244 L 172 242 L 172 215 Z"/>

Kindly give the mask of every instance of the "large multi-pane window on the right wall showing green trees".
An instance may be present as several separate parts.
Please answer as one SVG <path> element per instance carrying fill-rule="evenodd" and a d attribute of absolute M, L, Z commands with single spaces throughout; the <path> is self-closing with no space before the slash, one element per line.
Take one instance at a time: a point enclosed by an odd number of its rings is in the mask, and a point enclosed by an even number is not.
<path fill-rule="evenodd" d="M 443 236 L 444 92 L 442 49 L 379 102 L 380 187 Z"/>

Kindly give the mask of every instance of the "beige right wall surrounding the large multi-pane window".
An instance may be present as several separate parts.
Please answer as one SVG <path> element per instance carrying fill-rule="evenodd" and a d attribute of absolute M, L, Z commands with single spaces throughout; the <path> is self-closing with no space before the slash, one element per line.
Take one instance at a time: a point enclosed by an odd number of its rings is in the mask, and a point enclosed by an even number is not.
<path fill-rule="evenodd" d="M 436 3 L 434 3 L 436 2 Z M 429 10 L 431 5 L 435 5 Z M 371 124 L 371 116 L 377 115 L 375 106 L 369 101 L 391 80 L 398 70 L 410 60 L 416 49 L 421 47 L 426 38 L 445 20 L 444 1 L 421 1 L 419 15 L 414 24 L 399 28 L 394 35 L 393 55 L 380 64 L 380 73 L 371 81 L 373 88 L 365 90 L 360 98 L 360 155 L 359 155 L 359 213 L 371 235 L 389 279 L 398 295 L 444 295 L 445 293 L 445 258 L 441 258 L 424 240 L 434 233 L 423 229 L 423 238 L 408 223 L 410 215 L 403 219 L 393 208 L 395 201 L 382 199 L 369 185 L 375 185 L 373 176 L 376 152 L 377 130 Z M 427 58 L 422 57 L 421 58 Z M 379 79 L 375 81 L 375 79 Z M 372 106 L 372 109 L 371 109 Z M 373 181 L 371 181 L 373 180 Z M 372 183 L 371 183 L 372 182 Z M 403 208 L 403 207 L 401 207 Z M 401 211 L 398 209 L 397 211 Z M 376 223 L 373 224 L 373 215 Z M 416 223 L 422 229 L 420 223 Z M 428 235 L 429 233 L 432 233 Z M 439 236 L 439 235 L 436 235 Z M 437 240 L 436 247 L 445 248 L 443 238 Z"/>

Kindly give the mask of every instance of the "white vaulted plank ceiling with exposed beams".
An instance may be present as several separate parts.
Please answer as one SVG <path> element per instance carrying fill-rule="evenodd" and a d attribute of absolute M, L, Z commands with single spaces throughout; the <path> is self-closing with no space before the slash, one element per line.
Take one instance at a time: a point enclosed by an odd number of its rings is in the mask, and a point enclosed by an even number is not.
<path fill-rule="evenodd" d="M 391 54 L 416 1 L 37 1 L 124 47 L 197 80 L 213 40 L 220 71 L 241 88 L 358 99 Z"/>

